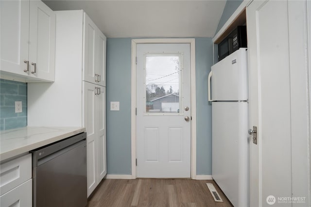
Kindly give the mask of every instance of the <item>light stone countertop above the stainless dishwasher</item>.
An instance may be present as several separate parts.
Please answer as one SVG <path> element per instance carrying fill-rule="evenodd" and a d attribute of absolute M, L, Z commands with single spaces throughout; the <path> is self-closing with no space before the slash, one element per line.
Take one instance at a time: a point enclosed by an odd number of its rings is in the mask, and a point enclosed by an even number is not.
<path fill-rule="evenodd" d="M 23 127 L 0 132 L 0 161 L 85 132 L 83 127 Z"/>

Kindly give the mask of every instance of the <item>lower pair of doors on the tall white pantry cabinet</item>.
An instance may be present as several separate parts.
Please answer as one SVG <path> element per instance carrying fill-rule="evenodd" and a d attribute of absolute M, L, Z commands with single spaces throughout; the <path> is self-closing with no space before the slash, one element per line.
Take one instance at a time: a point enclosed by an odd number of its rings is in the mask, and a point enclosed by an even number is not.
<path fill-rule="evenodd" d="M 106 128 L 104 86 L 83 81 L 84 122 L 87 132 L 87 194 L 101 182 L 106 170 Z"/>

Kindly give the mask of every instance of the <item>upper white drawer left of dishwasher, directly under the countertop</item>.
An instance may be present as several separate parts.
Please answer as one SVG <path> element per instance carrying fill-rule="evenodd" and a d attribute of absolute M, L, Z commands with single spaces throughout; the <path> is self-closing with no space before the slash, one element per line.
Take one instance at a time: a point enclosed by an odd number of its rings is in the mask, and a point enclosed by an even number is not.
<path fill-rule="evenodd" d="M 31 156 L 31 154 L 24 155 L 0 165 L 0 195 L 31 178 Z"/>

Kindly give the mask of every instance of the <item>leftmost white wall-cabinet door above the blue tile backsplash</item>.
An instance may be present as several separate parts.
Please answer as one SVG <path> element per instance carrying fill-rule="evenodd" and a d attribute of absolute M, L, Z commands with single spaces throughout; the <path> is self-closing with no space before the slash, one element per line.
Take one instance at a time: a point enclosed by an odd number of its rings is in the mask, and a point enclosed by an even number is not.
<path fill-rule="evenodd" d="M 27 76 L 29 1 L 0 1 L 0 69 Z"/>

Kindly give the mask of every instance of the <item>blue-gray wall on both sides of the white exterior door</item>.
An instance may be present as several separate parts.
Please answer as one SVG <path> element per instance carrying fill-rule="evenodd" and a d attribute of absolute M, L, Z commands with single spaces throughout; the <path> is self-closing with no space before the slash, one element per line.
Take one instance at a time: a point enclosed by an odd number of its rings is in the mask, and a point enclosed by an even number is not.
<path fill-rule="evenodd" d="M 107 39 L 107 171 L 131 174 L 131 38 Z M 211 38 L 196 38 L 197 174 L 211 174 L 211 105 L 207 76 L 212 65 Z M 119 101 L 120 111 L 110 111 Z"/>

